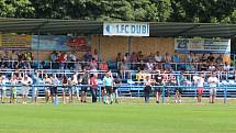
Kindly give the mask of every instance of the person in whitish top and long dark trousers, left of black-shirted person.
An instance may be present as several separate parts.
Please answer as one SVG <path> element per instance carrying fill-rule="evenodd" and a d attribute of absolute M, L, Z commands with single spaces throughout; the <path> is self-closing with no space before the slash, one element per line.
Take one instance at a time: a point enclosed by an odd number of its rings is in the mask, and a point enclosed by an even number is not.
<path fill-rule="evenodd" d="M 149 96 L 150 96 L 150 91 L 151 91 L 151 78 L 149 75 L 146 76 L 145 80 L 144 80 L 144 101 L 145 103 L 149 103 Z"/>

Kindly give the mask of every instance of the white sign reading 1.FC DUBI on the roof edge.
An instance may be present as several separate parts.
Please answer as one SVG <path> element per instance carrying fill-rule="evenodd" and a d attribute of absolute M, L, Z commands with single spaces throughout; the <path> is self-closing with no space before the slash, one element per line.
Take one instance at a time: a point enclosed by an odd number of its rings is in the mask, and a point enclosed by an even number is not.
<path fill-rule="evenodd" d="M 149 36 L 149 23 L 103 23 L 103 35 Z"/>

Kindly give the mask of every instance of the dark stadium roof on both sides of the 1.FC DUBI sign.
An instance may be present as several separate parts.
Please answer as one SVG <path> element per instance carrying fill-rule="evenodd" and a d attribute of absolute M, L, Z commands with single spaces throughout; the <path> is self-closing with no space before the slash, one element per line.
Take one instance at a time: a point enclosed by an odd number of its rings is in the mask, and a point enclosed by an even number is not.
<path fill-rule="evenodd" d="M 86 20 L 0 18 L 0 33 L 103 34 L 103 22 Z M 235 37 L 236 24 L 150 22 L 153 37 Z"/>

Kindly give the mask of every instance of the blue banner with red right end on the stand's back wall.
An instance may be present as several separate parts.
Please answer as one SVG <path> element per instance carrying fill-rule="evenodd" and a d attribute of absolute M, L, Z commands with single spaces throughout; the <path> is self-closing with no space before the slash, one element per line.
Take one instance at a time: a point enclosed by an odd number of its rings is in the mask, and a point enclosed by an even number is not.
<path fill-rule="evenodd" d="M 32 49 L 88 52 L 91 51 L 91 46 L 88 44 L 88 37 L 85 36 L 40 35 L 38 42 L 38 35 L 33 35 Z"/>

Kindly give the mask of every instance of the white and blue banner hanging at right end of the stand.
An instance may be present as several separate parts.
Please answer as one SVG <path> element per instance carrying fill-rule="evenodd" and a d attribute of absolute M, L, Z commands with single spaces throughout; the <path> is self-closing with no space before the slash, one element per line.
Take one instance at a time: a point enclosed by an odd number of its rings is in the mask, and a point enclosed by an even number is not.
<path fill-rule="evenodd" d="M 231 54 L 231 40 L 225 38 L 176 38 L 178 53 L 218 53 Z"/>

